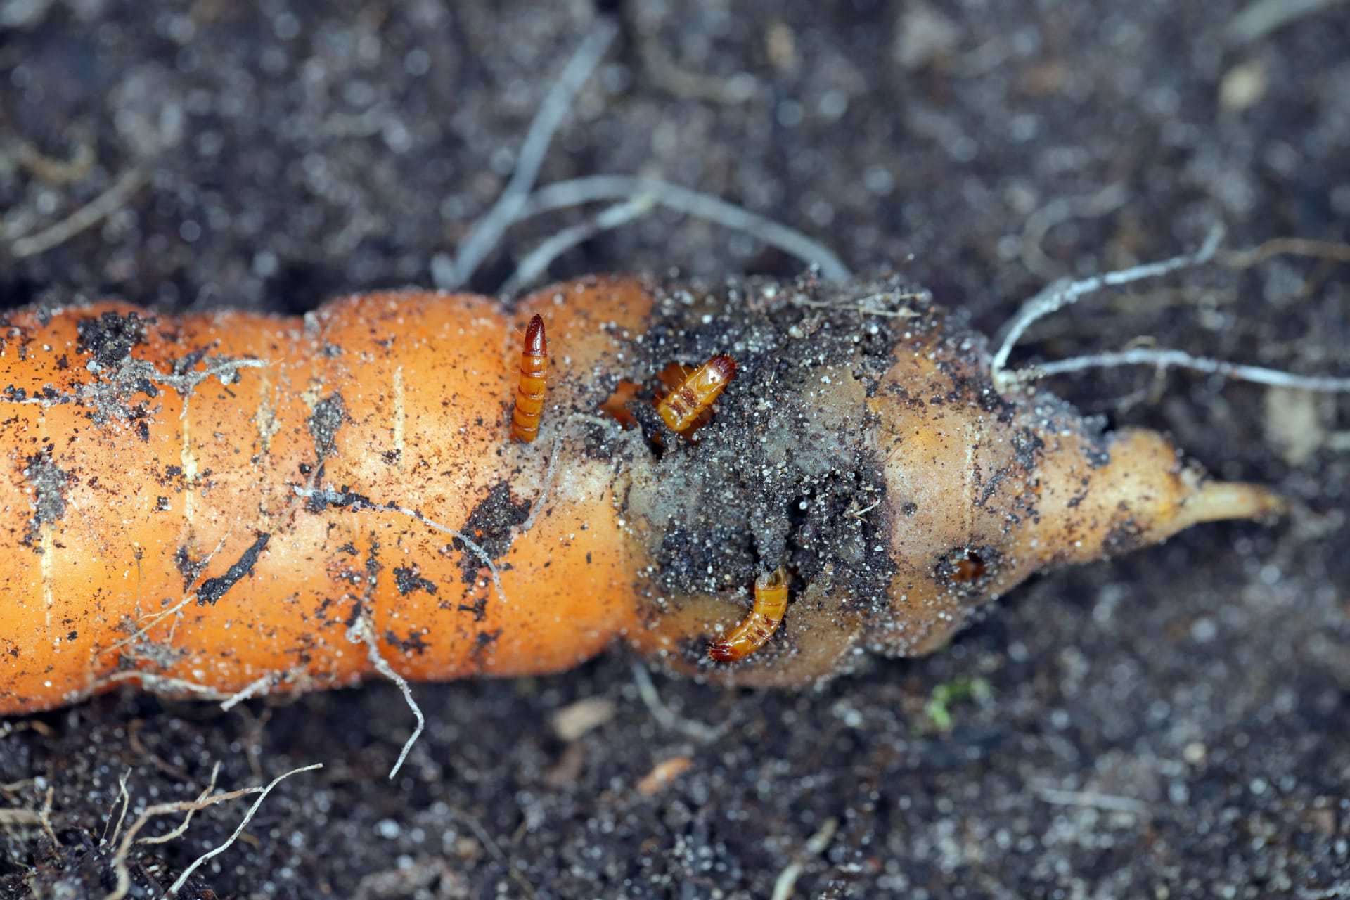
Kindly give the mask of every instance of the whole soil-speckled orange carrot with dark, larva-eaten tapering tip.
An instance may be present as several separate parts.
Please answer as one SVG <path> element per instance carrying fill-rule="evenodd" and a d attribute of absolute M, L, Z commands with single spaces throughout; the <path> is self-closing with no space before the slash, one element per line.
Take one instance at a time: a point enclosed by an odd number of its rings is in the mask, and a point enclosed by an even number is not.
<path fill-rule="evenodd" d="M 867 297 L 867 308 L 859 298 Z M 539 439 L 510 440 L 547 322 Z M 657 374 L 720 354 L 698 428 Z M 899 282 L 587 279 L 504 310 L 381 293 L 304 318 L 123 304 L 5 320 L 0 712 L 124 683 L 227 699 L 555 672 L 618 638 L 794 685 L 941 646 L 1031 572 L 1281 509 L 1146 430 L 1002 394 Z M 751 586 L 782 625 L 745 658 Z"/>

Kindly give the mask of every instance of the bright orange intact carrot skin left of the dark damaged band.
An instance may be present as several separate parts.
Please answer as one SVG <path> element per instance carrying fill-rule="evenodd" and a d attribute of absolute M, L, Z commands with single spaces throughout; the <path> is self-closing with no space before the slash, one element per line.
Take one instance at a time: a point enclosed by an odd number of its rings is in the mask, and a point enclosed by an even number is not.
<path fill-rule="evenodd" d="M 551 514 L 512 541 L 547 457 L 500 453 L 518 366 L 490 301 L 367 294 L 304 321 L 159 321 L 100 304 L 9 321 L 0 712 L 140 680 L 132 672 L 202 696 L 269 676 L 270 690 L 350 684 L 371 668 L 350 640 L 360 618 L 410 679 L 567 668 L 633 622 L 609 464 L 564 455 Z M 265 364 L 188 391 L 151 375 L 94 398 L 124 349 L 161 374 L 200 349 L 198 368 Z M 14 402 L 45 391 L 55 399 Z M 297 490 L 350 491 L 460 532 L 493 553 L 500 590 L 446 532 Z M 240 560 L 247 571 L 219 591 Z"/>

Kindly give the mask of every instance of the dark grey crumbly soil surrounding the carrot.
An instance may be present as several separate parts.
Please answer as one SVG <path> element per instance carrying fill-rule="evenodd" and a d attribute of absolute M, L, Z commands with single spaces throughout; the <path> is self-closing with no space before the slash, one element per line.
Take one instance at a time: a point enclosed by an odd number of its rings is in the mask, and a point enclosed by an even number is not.
<path fill-rule="evenodd" d="M 1056 277 L 1170 256 L 1216 221 L 1233 248 L 1345 242 L 1350 5 L 1256 36 L 1234 26 L 1242 5 L 614 0 L 620 36 L 541 184 L 659 174 L 857 271 L 899 267 L 986 331 Z M 294 313 L 429 286 L 595 15 L 580 0 L 0 3 L 0 300 Z M 19 258 L 24 235 L 132 170 L 147 184 L 107 220 Z M 582 217 L 514 227 L 473 286 L 494 290 Z M 549 275 L 672 269 L 799 266 L 656 212 Z M 1347 275 L 1295 256 L 1211 266 L 1062 314 L 1035 352 L 1142 335 L 1345 375 Z M 412 718 L 381 683 L 231 712 L 112 694 L 14 721 L 0 812 L 39 810 L 50 787 L 61 846 L 0 815 L 0 893 L 101 897 L 117 779 L 132 770 L 134 816 L 196 796 L 220 761 L 224 789 L 325 768 L 278 787 L 190 897 L 767 897 L 794 861 L 796 896 L 1347 897 L 1350 401 L 1153 386 L 1133 371 L 1057 389 L 1280 487 L 1293 515 L 1042 578 L 948 650 L 814 692 L 653 676 L 680 716 L 726 726 L 713 742 L 653 716 L 624 650 L 556 677 L 417 685 L 431 725 L 394 783 Z M 925 715 L 973 677 L 991 694 L 952 702 L 949 730 Z M 564 739 L 554 715 L 585 699 L 599 725 Z M 687 770 L 644 789 L 679 757 Z M 159 896 L 244 803 L 139 849 L 134 896 Z"/>

